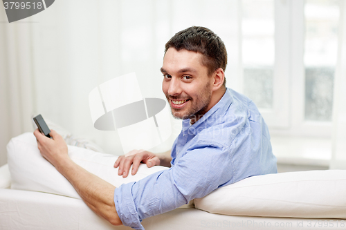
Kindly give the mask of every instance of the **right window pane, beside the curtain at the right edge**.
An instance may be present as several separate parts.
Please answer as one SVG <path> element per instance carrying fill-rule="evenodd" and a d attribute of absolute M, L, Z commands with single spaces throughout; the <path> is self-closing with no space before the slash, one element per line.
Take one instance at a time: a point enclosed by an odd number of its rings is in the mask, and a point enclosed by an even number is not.
<path fill-rule="evenodd" d="M 305 119 L 330 121 L 338 49 L 339 1 L 307 0 L 305 14 Z"/>

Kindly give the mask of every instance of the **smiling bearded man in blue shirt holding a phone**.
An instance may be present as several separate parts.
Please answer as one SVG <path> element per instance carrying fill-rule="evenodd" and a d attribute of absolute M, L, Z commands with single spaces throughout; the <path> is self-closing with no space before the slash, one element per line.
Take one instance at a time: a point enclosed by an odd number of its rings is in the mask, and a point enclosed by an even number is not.
<path fill-rule="evenodd" d="M 269 133 L 255 104 L 225 86 L 223 41 L 203 27 L 178 32 L 165 46 L 163 93 L 183 129 L 170 156 L 142 152 L 119 157 L 127 177 L 140 162 L 170 169 L 115 188 L 72 162 L 64 140 L 35 131 L 42 155 L 74 186 L 86 204 L 112 224 L 143 229 L 140 221 L 176 209 L 220 186 L 253 175 L 276 173 Z"/>

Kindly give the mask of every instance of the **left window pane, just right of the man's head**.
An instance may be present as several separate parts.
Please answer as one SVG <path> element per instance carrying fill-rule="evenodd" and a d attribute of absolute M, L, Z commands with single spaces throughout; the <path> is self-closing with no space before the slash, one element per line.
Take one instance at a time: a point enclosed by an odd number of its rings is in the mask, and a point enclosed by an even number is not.
<path fill-rule="evenodd" d="M 244 94 L 260 108 L 273 106 L 274 2 L 242 1 Z"/>

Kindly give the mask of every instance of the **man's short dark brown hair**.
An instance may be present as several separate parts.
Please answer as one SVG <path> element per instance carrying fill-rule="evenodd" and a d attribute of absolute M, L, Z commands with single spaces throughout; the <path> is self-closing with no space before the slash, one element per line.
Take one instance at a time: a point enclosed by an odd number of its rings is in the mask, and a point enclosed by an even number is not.
<path fill-rule="evenodd" d="M 178 51 L 185 49 L 200 52 L 204 57 L 202 64 L 208 68 L 209 76 L 218 68 L 226 70 L 227 51 L 224 41 L 208 28 L 191 26 L 177 32 L 170 41 L 167 41 L 165 53 L 171 47 Z M 224 80 L 224 86 L 226 86 L 226 79 Z"/>

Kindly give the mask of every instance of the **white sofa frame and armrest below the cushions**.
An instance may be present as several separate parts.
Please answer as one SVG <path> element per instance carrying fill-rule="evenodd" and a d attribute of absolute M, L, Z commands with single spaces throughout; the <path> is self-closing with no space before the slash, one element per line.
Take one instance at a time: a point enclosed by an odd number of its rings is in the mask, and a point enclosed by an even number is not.
<path fill-rule="evenodd" d="M 1 166 L 0 229 L 130 229 L 112 226 L 93 213 L 80 199 L 9 189 L 10 181 L 8 165 Z M 143 226 L 147 230 L 345 229 L 346 220 L 221 215 L 190 207 L 147 218 L 143 220 Z"/>

